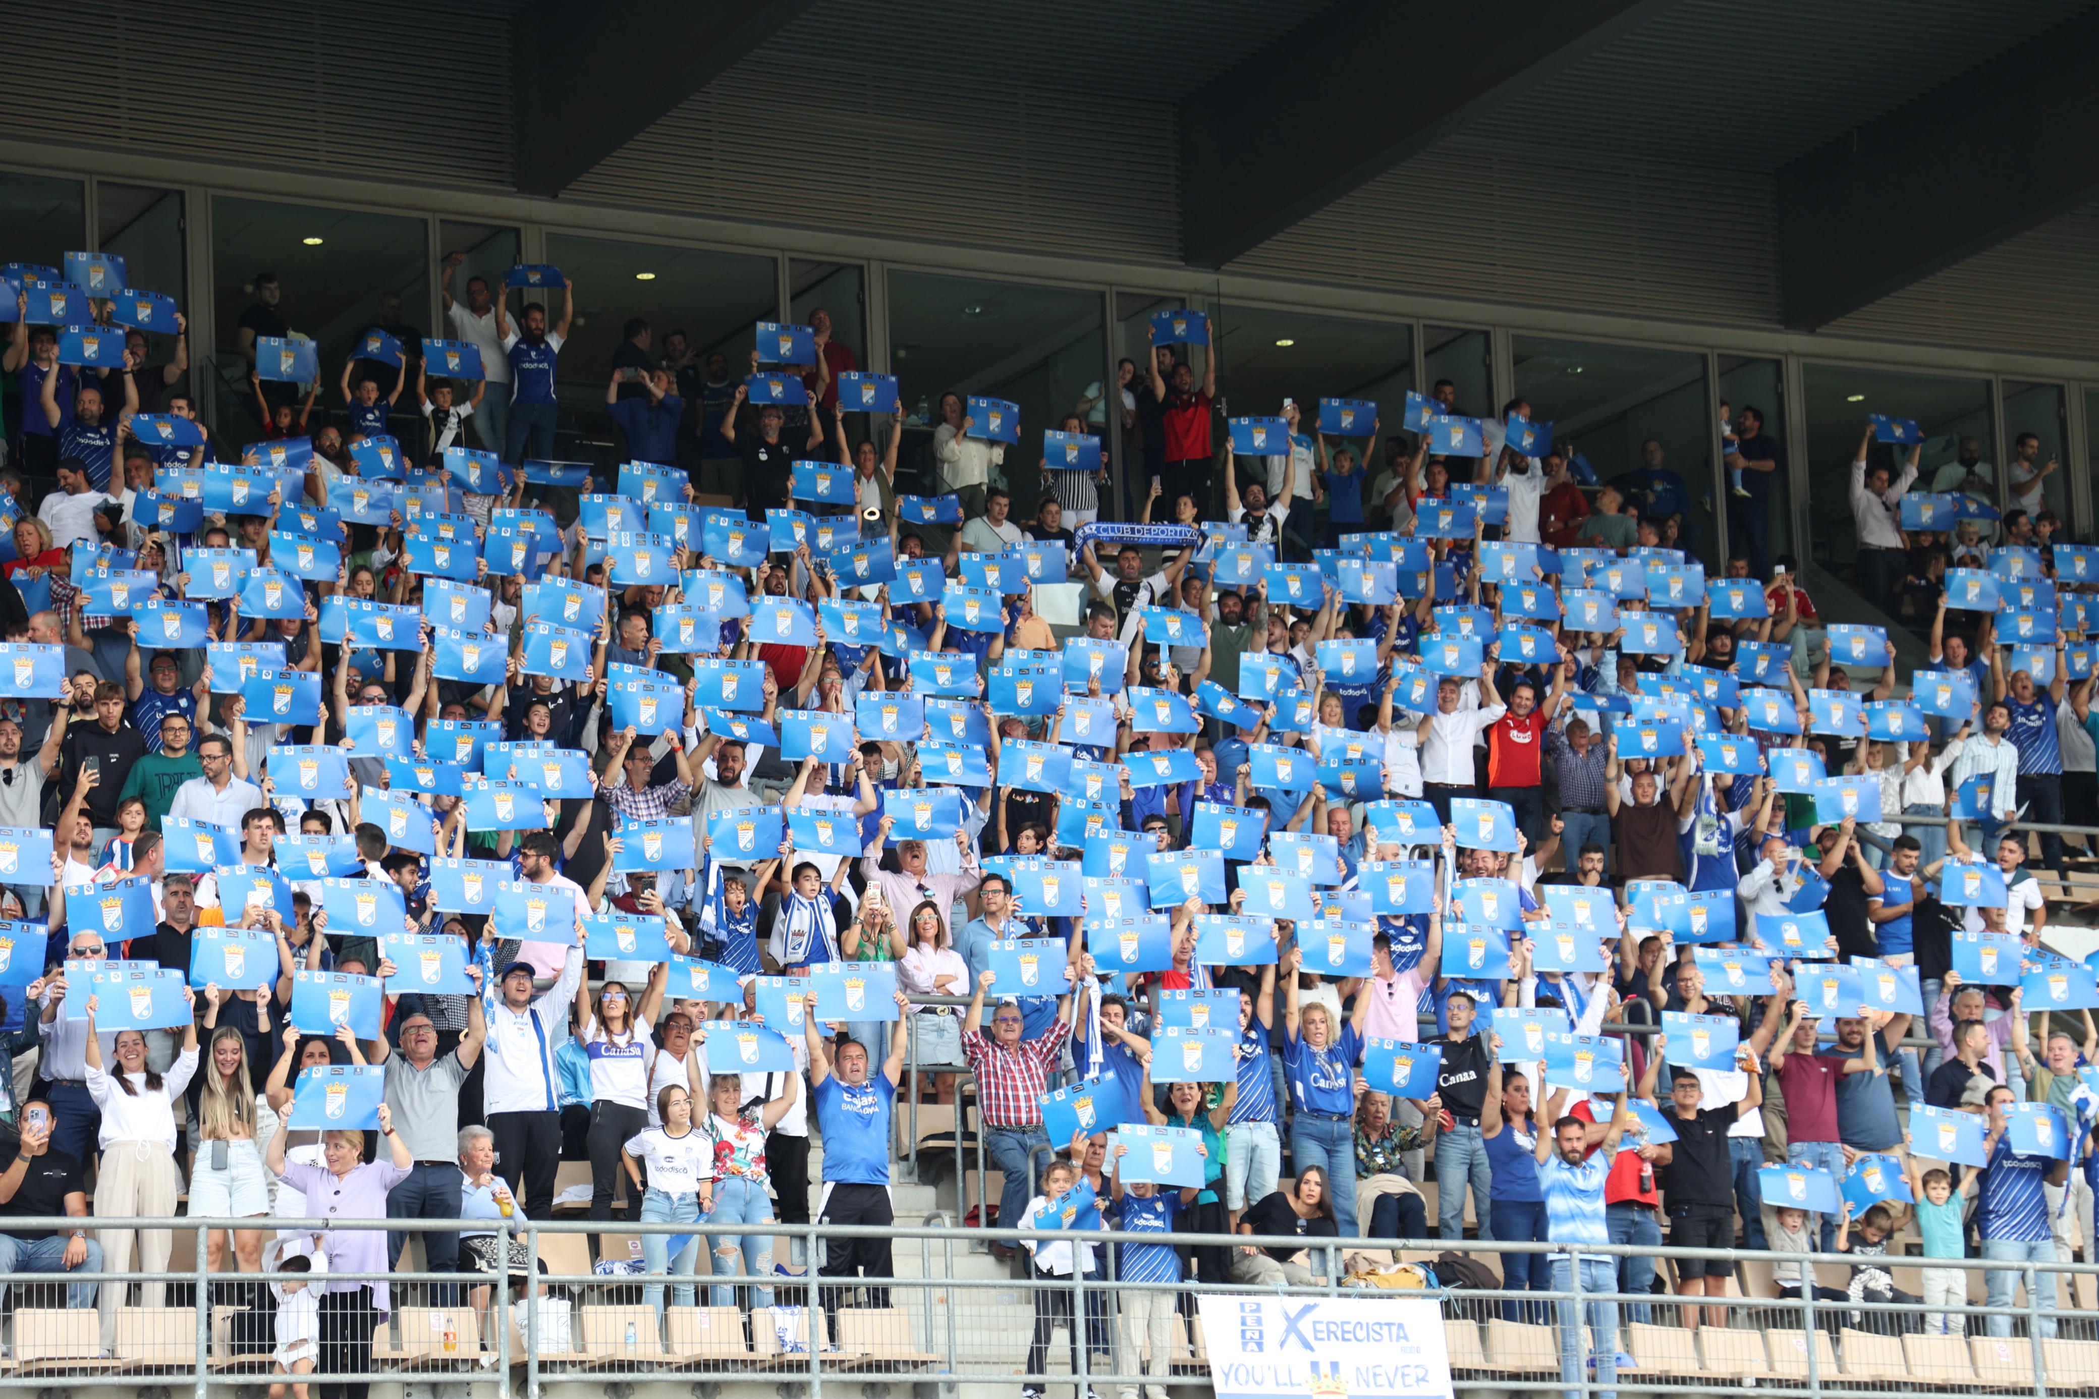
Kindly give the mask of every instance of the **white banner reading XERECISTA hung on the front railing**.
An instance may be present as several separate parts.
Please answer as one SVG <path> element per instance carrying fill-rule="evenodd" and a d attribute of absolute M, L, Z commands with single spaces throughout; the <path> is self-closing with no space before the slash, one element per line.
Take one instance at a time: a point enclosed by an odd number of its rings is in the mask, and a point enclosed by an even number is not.
<path fill-rule="evenodd" d="M 1358 1292 L 1201 1296 L 1217 1399 L 1448 1399 L 1450 1353 L 1427 1298 Z"/>

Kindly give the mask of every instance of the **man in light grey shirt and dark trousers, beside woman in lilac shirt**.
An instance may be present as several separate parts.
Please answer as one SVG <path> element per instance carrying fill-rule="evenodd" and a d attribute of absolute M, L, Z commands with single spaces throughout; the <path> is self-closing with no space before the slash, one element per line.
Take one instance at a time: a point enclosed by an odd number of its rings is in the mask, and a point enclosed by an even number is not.
<path fill-rule="evenodd" d="M 424 1011 L 409 1011 L 401 1019 L 401 1053 L 390 1053 L 384 1034 L 372 1049 L 372 1061 L 386 1068 L 386 1107 L 416 1158 L 407 1179 L 386 1191 L 386 1219 L 460 1214 L 460 1086 L 489 1038 L 489 1021 L 481 1013 L 481 967 L 468 963 L 466 977 L 474 984 L 474 994 L 466 996 L 466 1032 L 449 1055 L 439 1057 L 437 1021 Z M 397 986 L 401 980 L 390 975 L 388 1000 L 397 998 Z M 401 1267 L 405 1248 L 405 1233 L 386 1235 L 386 1256 L 395 1267 Z M 432 1273 L 449 1273 L 460 1261 L 458 1233 L 424 1233 L 422 1248 Z M 437 1292 L 439 1307 L 458 1307 L 449 1284 L 439 1284 Z"/>

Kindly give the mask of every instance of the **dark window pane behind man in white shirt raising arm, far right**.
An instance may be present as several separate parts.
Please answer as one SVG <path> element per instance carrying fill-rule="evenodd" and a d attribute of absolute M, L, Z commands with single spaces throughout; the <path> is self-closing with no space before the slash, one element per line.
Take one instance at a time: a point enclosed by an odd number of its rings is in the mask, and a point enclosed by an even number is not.
<path fill-rule="evenodd" d="M 1912 449 L 1870 440 L 1866 415 L 1914 417 L 1925 434 L 1923 447 L 1916 449 L 1916 487 L 1965 489 L 1992 499 L 1998 472 L 1984 459 L 1986 443 L 1996 440 L 1990 382 L 1851 365 L 1803 365 L 1801 375 L 1807 394 L 1811 562 L 1847 581 L 1887 619 L 1918 629 L 1929 627 L 1931 604 L 1904 587 L 1908 556 L 1862 545 L 1851 505 L 1851 464 L 1864 449 L 1868 478 L 1877 468 L 1887 468 L 1900 478 Z M 1868 501 L 1866 510 L 1879 505 Z M 1872 520 L 1872 514 L 1866 518 Z M 1830 621 L 1872 619 L 1830 617 Z"/>

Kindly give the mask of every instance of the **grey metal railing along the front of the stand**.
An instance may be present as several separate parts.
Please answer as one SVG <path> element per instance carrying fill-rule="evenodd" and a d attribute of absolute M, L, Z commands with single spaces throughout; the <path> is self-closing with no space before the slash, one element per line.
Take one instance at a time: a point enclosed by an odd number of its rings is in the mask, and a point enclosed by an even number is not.
<path fill-rule="evenodd" d="M 1348 1240 L 1331 1248 L 1343 1267 L 1318 1269 L 1297 1282 L 1127 1282 L 1119 1277 L 1115 1244 L 1173 1244 L 1245 1248 L 1245 1235 L 1207 1233 L 1115 1233 L 991 1229 L 987 1237 L 1005 1244 L 1068 1242 L 1100 1246 L 1094 1275 L 1075 1269 L 1026 1277 L 1005 1273 L 963 1275 L 968 1258 L 955 1248 L 955 1229 L 945 1212 L 917 1225 L 724 1225 L 735 1235 L 802 1237 L 808 1271 L 800 1275 L 745 1273 L 733 1237 L 705 1237 L 691 1223 L 607 1223 L 607 1221 L 512 1221 L 525 1244 L 535 1277 L 502 1277 L 411 1271 L 388 1273 L 208 1273 L 206 1235 L 222 1229 L 275 1229 L 449 1233 L 455 1221 L 279 1221 L 279 1219 L 19 1219 L 8 1221 L 21 1237 L 44 1229 L 193 1231 L 197 1263 L 162 1273 L 6 1273 L 0 1284 L 13 1298 L 8 1359 L 0 1363 L 0 1389 L 44 1389 L 67 1382 L 189 1384 L 197 1399 L 216 1384 L 271 1380 L 271 1328 L 260 1317 L 237 1321 L 256 1307 L 256 1284 L 311 1284 L 330 1288 L 386 1284 L 390 1313 L 376 1317 L 369 1347 L 344 1344 L 344 1328 L 365 1317 L 359 1300 L 334 1300 L 321 1317 L 319 1365 L 292 1378 L 309 1384 L 416 1380 L 487 1386 L 489 1395 L 512 1393 L 539 1399 L 546 1382 L 617 1384 L 636 1380 L 674 1382 L 796 1382 L 812 1397 L 825 1384 L 867 1382 L 997 1382 L 997 1384 L 1089 1384 L 1123 1389 L 1144 1384 L 1207 1384 L 1209 1355 L 1194 1298 L 1205 1294 L 1303 1296 L 1303 1298 L 1432 1298 L 1440 1305 L 1450 1351 L 1453 1382 L 1461 1391 L 1562 1389 L 1566 1393 L 1738 1393 L 1744 1386 L 1784 1391 L 1814 1399 L 1866 1399 L 1885 1395 L 1889 1384 L 1948 1391 L 2019 1391 L 2047 1399 L 2051 1393 L 2099 1389 L 2099 1311 L 2065 1309 L 2057 1303 L 2057 1279 L 2099 1284 L 2099 1267 L 2076 1263 L 1996 1263 L 1986 1258 L 1910 1258 L 1856 1254 L 1769 1254 L 1744 1250 L 1692 1250 L 1629 1244 L 1515 1244 L 1459 1240 Z M 491 1221 L 466 1221 L 487 1229 Z M 584 1235 L 691 1235 L 699 1231 L 693 1267 L 707 1273 L 636 1273 L 630 1267 L 594 1271 Z M 1289 1244 L 1289 1240 L 1259 1240 Z M 819 1261 L 825 1244 L 886 1244 L 892 1267 L 886 1275 L 825 1275 Z M 1394 1248 L 1404 1258 L 1459 1250 L 1469 1258 L 1503 1261 L 1503 1286 L 1436 1286 L 1387 1292 L 1360 1277 L 1343 1279 L 1345 1258 L 1362 1248 Z M 611 1258 L 607 1248 L 607 1258 Z M 1511 1286 L 1522 1282 L 1511 1261 L 1545 1254 L 1568 1258 L 1553 1273 L 1560 1290 Z M 674 1258 L 678 1254 L 672 1254 Z M 1029 1256 L 1029 1254 L 1022 1254 Z M 1954 1298 L 1937 1296 L 1677 1296 L 1585 1286 L 1583 1263 L 1608 1261 L 1616 1271 L 1625 1261 L 1646 1261 L 1662 1275 L 1681 1261 L 1721 1261 L 1732 1279 L 1736 1265 L 1759 1277 L 1769 1265 L 1816 1269 L 1828 1286 L 1853 1265 L 1887 1269 L 1897 1286 L 1910 1269 L 1960 1273 L 2011 1273 L 2026 1288 L 2023 1305 L 1990 1307 L 1969 1300 L 1963 1286 Z M 403 1258 L 405 1263 L 407 1258 Z M 915 1275 L 896 1263 L 915 1263 Z M 722 1273 L 712 1273 L 722 1263 Z M 1316 1261 L 1314 1261 L 1316 1263 Z M 600 1265 L 602 1267 L 602 1265 Z M 544 1271 L 539 1271 L 544 1269 Z M 974 1271 L 991 1269 L 978 1258 Z M 2002 1286 L 2002 1277 L 1996 1279 Z M 67 1286 L 166 1288 L 168 1307 L 124 1307 L 126 1298 L 103 1296 L 94 1307 L 44 1305 L 44 1290 Z M 680 1286 L 709 1288 L 680 1305 Z M 1761 1284 L 1753 1284 L 1761 1286 Z M 657 1296 L 649 1296 L 657 1288 Z M 1360 1290 L 1358 1290 L 1360 1288 Z M 476 1292 L 487 1290 L 487 1296 Z M 518 1290 L 529 1305 L 514 1307 Z M 2044 1290 L 2044 1292 L 2042 1292 Z M 185 1305 L 187 1292 L 187 1305 Z M 218 1305 L 218 1298 L 248 1294 L 248 1307 Z M 204 1305 L 199 1305 L 204 1303 Z M 667 1303 L 667 1305 L 665 1305 Z M 1704 1326 L 1685 1326 L 1688 1309 L 1706 1309 Z M 512 1311 L 521 1313 L 512 1319 Z M 1154 1319 L 1136 1334 L 1140 1313 Z M 1713 1313 L 1719 1313 L 1717 1323 Z M 1587 1321 L 1583 1330 L 1581 1321 Z M 1671 1326 L 1675 1321 L 1675 1326 Z M 1979 1344 L 1944 1328 L 1956 1321 Z M 1066 1344 L 1056 1347 L 1056 1330 Z M 2051 1332 L 2059 1332 L 2051 1336 Z M 1165 1355 L 1159 1355 L 1165 1344 Z M 1060 1357 L 1058 1351 L 1064 1351 Z M 1620 1353 L 1623 1361 L 1620 1363 Z M 1068 1363 L 1056 1361 L 1068 1357 Z M 1591 1363 L 1602 1361 L 1595 1374 Z M 617 1393 L 617 1391 L 615 1391 Z"/>

